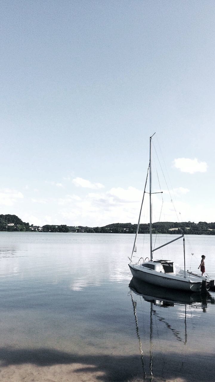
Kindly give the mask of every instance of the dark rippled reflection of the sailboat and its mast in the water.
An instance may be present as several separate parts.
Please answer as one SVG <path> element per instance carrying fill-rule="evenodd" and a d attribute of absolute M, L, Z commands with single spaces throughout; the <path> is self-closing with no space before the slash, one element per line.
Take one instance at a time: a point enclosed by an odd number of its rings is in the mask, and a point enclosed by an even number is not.
<path fill-rule="evenodd" d="M 211 295 L 204 295 L 202 293 L 188 293 L 188 292 L 182 292 L 177 290 L 170 290 L 168 288 L 161 288 L 156 287 L 148 283 L 140 282 L 135 277 L 132 278 L 131 282 L 129 283 L 131 300 L 133 304 L 133 311 L 134 311 L 134 317 L 135 317 L 135 325 L 136 325 L 136 333 L 137 338 L 139 341 L 139 351 L 141 353 L 141 363 L 142 363 L 142 369 L 143 369 L 143 380 L 146 381 L 152 381 L 154 379 L 155 371 L 153 370 L 153 362 L 154 362 L 154 356 L 152 350 L 153 350 L 153 317 L 156 320 L 156 322 L 160 322 L 160 325 L 165 325 L 167 328 L 167 331 L 171 332 L 175 340 L 184 343 L 188 342 L 188 333 L 187 333 L 187 306 L 190 307 L 192 304 L 197 303 L 199 305 L 199 308 L 201 307 L 203 312 L 207 311 L 207 304 L 211 303 L 214 304 L 215 300 Z M 135 301 L 135 295 L 136 295 L 136 301 Z M 146 348 L 145 343 L 142 344 L 141 341 L 141 335 L 139 330 L 139 323 L 137 318 L 137 296 L 142 297 L 145 301 L 147 301 L 150 304 L 150 337 L 149 337 L 149 344 L 150 344 L 150 350 L 149 350 L 149 369 L 147 368 L 147 363 L 144 362 L 144 357 L 147 359 L 147 356 L 144 356 L 143 349 Z M 156 308 L 157 307 L 157 308 Z M 180 318 L 182 318 L 182 315 L 184 317 L 184 330 L 179 330 L 178 325 L 171 325 L 168 319 L 168 314 L 162 314 L 162 310 L 158 311 L 160 308 L 176 308 L 178 307 L 178 312 L 180 312 Z M 163 310 L 165 313 L 165 311 Z M 176 315 L 177 317 L 177 311 Z M 144 317 L 145 322 L 145 317 Z M 144 330 L 145 332 L 145 330 Z M 144 341 L 145 341 L 145 333 L 144 333 Z M 147 377 L 147 369 L 148 369 L 148 376 Z"/>

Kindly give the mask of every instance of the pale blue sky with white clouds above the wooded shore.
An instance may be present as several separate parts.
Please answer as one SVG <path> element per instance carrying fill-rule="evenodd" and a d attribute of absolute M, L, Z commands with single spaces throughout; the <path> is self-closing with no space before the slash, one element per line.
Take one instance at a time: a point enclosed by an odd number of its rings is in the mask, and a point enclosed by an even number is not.
<path fill-rule="evenodd" d="M 153 220 L 215 221 L 214 1 L 2 0 L 0 36 L 0 214 L 137 223 L 156 132 Z"/>

